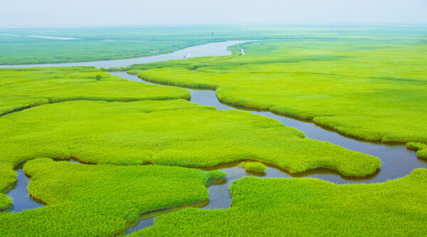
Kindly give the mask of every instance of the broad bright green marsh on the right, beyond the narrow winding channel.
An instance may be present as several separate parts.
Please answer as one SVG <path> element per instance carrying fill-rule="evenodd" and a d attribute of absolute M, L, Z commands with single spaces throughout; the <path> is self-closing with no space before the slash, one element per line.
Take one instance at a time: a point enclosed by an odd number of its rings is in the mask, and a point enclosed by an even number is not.
<path fill-rule="evenodd" d="M 427 142 L 426 43 L 342 39 L 242 47 L 244 56 L 129 69 L 142 70 L 145 80 L 215 89 L 224 102 L 311 119 L 355 137 Z"/>

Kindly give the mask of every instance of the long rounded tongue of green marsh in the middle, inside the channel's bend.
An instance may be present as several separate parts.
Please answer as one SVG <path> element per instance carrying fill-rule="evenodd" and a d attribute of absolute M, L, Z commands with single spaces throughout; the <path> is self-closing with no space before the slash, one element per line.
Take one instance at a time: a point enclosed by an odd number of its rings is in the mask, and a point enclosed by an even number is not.
<path fill-rule="evenodd" d="M 352 177 L 380 166 L 376 157 L 307 139 L 276 120 L 186 100 L 41 105 L 0 117 L 0 132 L 0 161 L 10 165 L 41 157 L 182 167 L 256 159 L 290 172 L 326 167 Z"/>

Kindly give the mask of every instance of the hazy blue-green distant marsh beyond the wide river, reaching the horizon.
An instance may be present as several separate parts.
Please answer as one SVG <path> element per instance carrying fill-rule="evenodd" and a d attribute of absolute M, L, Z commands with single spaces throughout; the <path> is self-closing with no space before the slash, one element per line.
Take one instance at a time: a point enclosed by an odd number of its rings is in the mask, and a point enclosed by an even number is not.
<path fill-rule="evenodd" d="M 58 40 L 26 36 L 80 39 Z M 135 58 L 169 53 L 208 42 L 277 38 L 426 39 L 426 29 L 388 26 L 232 25 L 0 29 L 0 65 Z M 153 51 L 158 52 L 150 53 Z"/>

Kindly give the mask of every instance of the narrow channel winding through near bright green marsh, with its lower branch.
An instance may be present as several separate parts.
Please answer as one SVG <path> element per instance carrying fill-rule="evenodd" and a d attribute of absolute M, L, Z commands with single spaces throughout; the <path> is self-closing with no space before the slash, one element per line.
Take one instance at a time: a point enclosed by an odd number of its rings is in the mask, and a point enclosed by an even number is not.
<path fill-rule="evenodd" d="M 243 53 L 243 52 L 242 52 Z M 127 80 L 139 81 L 147 84 L 160 85 L 156 83 L 149 83 L 138 78 L 136 75 L 130 75 L 126 72 L 112 72 L 112 75 L 117 75 Z M 327 127 L 315 125 L 311 120 L 300 120 L 295 117 L 277 115 L 273 112 L 263 110 L 253 110 L 245 107 L 236 107 L 233 105 L 226 105 L 216 98 L 216 93 L 213 90 L 194 90 L 186 88 L 191 92 L 191 102 L 199 105 L 210 105 L 216 107 L 218 110 L 243 110 L 256 115 L 263 115 L 270 117 L 289 127 L 295 127 L 305 133 L 308 138 L 317 139 L 320 141 L 331 142 L 341 147 L 351 149 L 365 154 L 371 154 L 381 159 L 381 170 L 375 174 L 364 178 L 349 178 L 343 177 L 329 169 L 315 169 L 308 172 L 298 174 L 290 174 L 284 170 L 278 169 L 268 165 L 264 173 L 257 174 L 254 172 L 246 172 L 245 169 L 238 167 L 238 163 L 223 164 L 217 167 L 212 167 L 206 170 L 220 169 L 227 173 L 226 181 L 223 184 L 214 184 L 208 187 L 209 189 L 209 204 L 202 207 L 202 209 L 228 209 L 231 204 L 231 196 L 228 191 L 228 186 L 236 180 L 246 176 L 258 176 L 262 178 L 289 178 L 289 177 L 312 177 L 331 181 L 335 184 L 357 184 L 357 183 L 376 183 L 384 182 L 399 177 L 404 177 L 410 174 L 413 169 L 427 168 L 427 160 L 420 159 L 416 155 L 416 151 L 406 148 L 404 143 L 397 142 L 372 142 L 363 139 L 356 139 L 346 135 L 341 135 L 338 132 L 331 130 Z M 137 225 L 127 228 L 126 233 L 139 231 L 142 228 L 152 226 L 154 219 L 152 216 L 144 218 Z"/>

